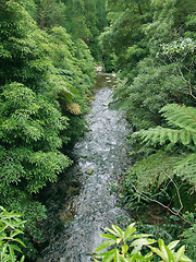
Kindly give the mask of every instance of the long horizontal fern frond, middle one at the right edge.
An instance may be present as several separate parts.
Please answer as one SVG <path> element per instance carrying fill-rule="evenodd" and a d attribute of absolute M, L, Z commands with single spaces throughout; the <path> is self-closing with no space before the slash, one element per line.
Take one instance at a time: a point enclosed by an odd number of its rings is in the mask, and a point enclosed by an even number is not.
<path fill-rule="evenodd" d="M 180 142 L 183 145 L 188 145 L 193 142 L 196 145 L 196 133 L 185 129 L 174 130 L 157 127 L 155 129 L 142 130 L 136 132 L 135 135 L 140 136 L 143 142 L 151 141 L 154 144 L 164 144 L 170 141 L 172 144 Z"/>

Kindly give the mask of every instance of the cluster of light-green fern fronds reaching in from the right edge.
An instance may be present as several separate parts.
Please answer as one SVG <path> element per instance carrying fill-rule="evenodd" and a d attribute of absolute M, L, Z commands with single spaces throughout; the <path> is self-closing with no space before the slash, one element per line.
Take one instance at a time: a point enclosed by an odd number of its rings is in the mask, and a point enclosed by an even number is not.
<path fill-rule="evenodd" d="M 143 142 L 149 142 L 151 144 L 160 143 L 166 144 L 168 141 L 171 144 L 182 143 L 183 145 L 189 146 L 192 144 L 196 144 L 196 110 L 193 107 L 185 107 L 180 106 L 176 104 L 167 105 L 161 109 L 162 115 L 166 117 L 169 124 L 175 126 L 177 129 L 168 129 L 162 127 L 157 127 L 155 129 L 149 130 L 142 130 L 139 132 L 136 132 L 133 134 L 133 136 L 140 136 Z M 194 147 L 193 147 L 194 150 Z M 133 168 L 133 172 L 137 174 L 138 178 L 144 176 L 147 176 L 148 179 L 146 181 L 155 180 L 157 181 L 157 178 L 159 178 L 158 186 L 160 186 L 160 182 L 162 182 L 162 176 L 159 174 L 159 168 L 164 174 L 167 174 L 169 177 L 171 175 L 177 175 L 181 176 L 182 179 L 187 180 L 191 184 L 196 186 L 195 181 L 195 174 L 196 174 L 196 155 L 195 153 L 188 154 L 186 157 L 177 156 L 167 156 L 166 153 L 163 154 L 163 159 L 159 162 L 160 156 L 158 154 L 154 154 L 149 156 L 147 159 L 142 160 L 140 163 L 136 164 L 136 166 Z M 169 171 L 166 169 L 164 165 L 169 167 Z M 151 169 L 151 166 L 155 168 Z M 147 175 L 145 175 L 147 174 Z M 187 176 L 187 177 L 186 177 Z M 143 178 L 144 178 L 143 177 Z M 151 177 L 151 178 L 150 178 Z M 163 177 L 166 177 L 163 175 Z M 138 179 L 138 180 L 140 180 Z M 151 182 L 150 182 L 151 183 Z M 149 182 L 147 182 L 148 187 Z"/>

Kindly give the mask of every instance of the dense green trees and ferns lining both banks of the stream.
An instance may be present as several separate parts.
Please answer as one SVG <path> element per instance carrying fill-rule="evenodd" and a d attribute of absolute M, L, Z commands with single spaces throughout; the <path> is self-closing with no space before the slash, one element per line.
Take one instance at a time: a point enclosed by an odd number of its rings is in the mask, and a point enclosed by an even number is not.
<path fill-rule="evenodd" d="M 85 130 L 95 58 L 118 72 L 114 106 L 133 131 L 121 204 L 140 231 L 166 245 L 181 236 L 196 259 L 195 10 L 194 0 L 1 0 L 0 204 L 24 213 L 27 258 L 46 217 L 37 194 L 72 164 L 66 148 Z M 23 222 L 9 212 L 17 235 Z"/>

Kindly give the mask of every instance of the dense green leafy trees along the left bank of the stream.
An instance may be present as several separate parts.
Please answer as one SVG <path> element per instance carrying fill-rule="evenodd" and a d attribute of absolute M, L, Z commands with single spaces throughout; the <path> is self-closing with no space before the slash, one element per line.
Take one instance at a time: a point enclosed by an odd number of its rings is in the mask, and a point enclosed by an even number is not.
<path fill-rule="evenodd" d="M 0 3 L 0 204 L 24 213 L 29 258 L 46 217 L 36 195 L 72 164 L 68 143 L 85 130 L 95 80 L 86 39 L 66 32 L 64 8 L 58 1 Z"/>

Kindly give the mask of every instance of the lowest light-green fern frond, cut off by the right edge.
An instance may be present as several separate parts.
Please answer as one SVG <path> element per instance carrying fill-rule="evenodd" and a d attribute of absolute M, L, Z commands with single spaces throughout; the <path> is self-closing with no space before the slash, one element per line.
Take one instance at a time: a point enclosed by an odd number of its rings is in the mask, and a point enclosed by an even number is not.
<path fill-rule="evenodd" d="M 185 158 L 176 163 L 173 174 L 187 180 L 193 184 L 192 190 L 196 191 L 196 153 L 188 154 Z"/>

